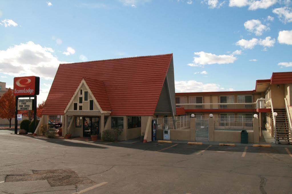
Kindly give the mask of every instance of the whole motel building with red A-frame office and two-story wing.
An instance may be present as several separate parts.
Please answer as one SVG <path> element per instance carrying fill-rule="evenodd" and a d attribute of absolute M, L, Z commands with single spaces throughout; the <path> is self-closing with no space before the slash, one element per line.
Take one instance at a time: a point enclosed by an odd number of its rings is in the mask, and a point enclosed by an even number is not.
<path fill-rule="evenodd" d="M 61 115 L 62 136 L 122 129 L 119 140 L 291 142 L 292 72 L 257 80 L 255 90 L 175 93 L 173 54 L 60 64 L 40 126 Z"/>

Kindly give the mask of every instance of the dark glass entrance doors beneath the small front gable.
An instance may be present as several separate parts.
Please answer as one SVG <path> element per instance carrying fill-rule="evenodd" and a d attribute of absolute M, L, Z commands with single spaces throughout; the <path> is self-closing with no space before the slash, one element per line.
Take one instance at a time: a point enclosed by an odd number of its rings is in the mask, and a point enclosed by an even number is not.
<path fill-rule="evenodd" d="M 84 117 L 83 118 L 83 137 L 90 137 L 95 132 L 99 134 L 99 117 Z"/>

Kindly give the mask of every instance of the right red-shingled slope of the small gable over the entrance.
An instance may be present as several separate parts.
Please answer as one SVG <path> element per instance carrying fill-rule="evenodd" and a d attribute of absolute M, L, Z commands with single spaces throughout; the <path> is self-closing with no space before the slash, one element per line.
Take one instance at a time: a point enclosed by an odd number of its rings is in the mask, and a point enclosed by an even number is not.
<path fill-rule="evenodd" d="M 93 96 L 97 100 L 99 106 L 103 111 L 111 111 L 112 107 L 109 102 L 109 97 L 107 96 L 107 91 L 105 88 L 105 84 L 103 81 L 96 80 L 96 79 L 90 79 L 87 77 L 84 77 L 84 80 L 91 90 Z"/>

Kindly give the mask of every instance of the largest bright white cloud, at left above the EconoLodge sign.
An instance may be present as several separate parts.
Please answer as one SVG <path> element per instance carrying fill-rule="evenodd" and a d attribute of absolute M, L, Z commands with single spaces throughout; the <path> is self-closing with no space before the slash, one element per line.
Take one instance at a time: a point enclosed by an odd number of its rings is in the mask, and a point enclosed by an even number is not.
<path fill-rule="evenodd" d="M 39 76 L 53 79 L 60 63 L 53 56 L 52 48 L 42 47 L 34 42 L 13 45 L 0 50 L 0 72 L 11 76 Z"/>

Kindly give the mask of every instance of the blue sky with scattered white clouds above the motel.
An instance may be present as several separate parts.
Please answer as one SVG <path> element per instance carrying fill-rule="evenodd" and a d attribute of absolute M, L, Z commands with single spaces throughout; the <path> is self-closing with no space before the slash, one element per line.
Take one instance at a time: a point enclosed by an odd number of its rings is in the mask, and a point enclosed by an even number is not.
<path fill-rule="evenodd" d="M 253 90 L 292 70 L 290 0 L 0 1 L 0 81 L 59 63 L 173 53 L 177 92 Z"/>

